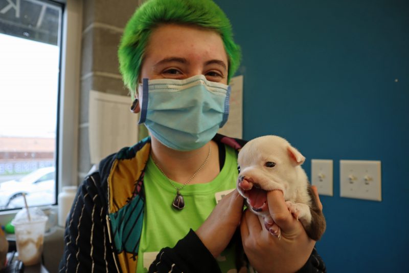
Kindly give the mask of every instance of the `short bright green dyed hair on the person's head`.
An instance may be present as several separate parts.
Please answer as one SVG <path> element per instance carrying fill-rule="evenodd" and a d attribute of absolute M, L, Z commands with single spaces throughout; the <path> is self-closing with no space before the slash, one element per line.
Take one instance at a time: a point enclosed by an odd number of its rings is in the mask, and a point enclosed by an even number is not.
<path fill-rule="evenodd" d="M 152 31 L 161 24 L 196 25 L 220 34 L 228 55 L 228 82 L 240 64 L 229 19 L 212 0 L 148 0 L 129 19 L 118 49 L 120 71 L 132 99 L 141 73 L 145 48 Z"/>

